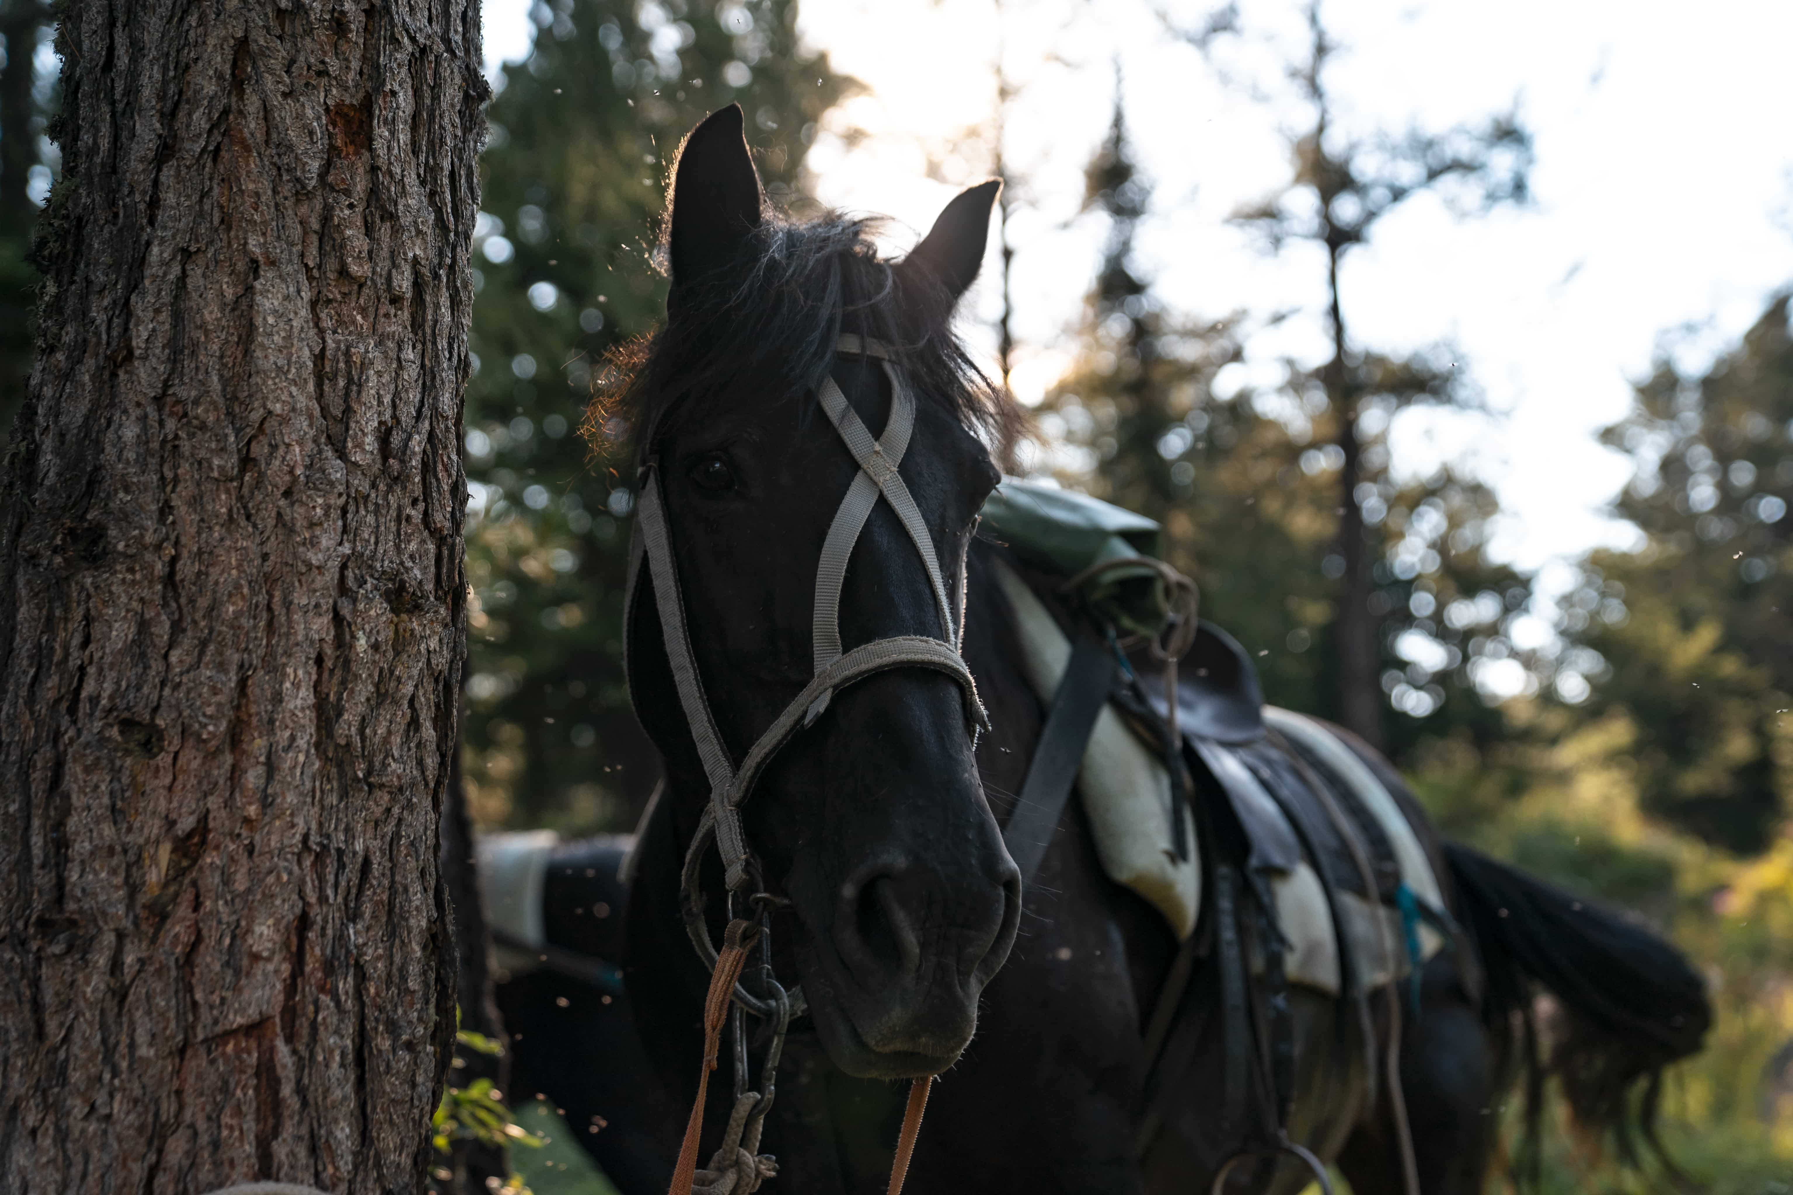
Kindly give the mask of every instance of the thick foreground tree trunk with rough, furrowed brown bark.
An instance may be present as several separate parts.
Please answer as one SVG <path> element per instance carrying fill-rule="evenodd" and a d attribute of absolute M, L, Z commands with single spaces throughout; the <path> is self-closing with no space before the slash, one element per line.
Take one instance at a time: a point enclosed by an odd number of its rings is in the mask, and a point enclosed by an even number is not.
<path fill-rule="evenodd" d="M 479 9 L 120 5 L 0 498 L 0 1190 L 416 1191 Z"/>

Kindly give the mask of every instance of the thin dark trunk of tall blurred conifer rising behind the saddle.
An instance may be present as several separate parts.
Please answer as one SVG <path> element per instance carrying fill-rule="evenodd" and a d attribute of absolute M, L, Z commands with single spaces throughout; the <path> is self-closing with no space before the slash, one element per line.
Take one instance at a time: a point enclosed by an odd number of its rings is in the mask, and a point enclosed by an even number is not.
<path fill-rule="evenodd" d="M 1338 717 L 1345 729 L 1354 731 L 1372 747 L 1382 745 L 1382 688 L 1377 677 L 1381 663 L 1382 620 L 1370 609 L 1375 591 L 1370 543 L 1364 536 L 1363 507 L 1357 505 L 1357 480 L 1363 477 L 1363 444 L 1357 443 L 1357 387 L 1345 358 L 1345 312 L 1339 303 L 1339 251 L 1330 249 L 1327 276 L 1332 299 L 1332 360 L 1321 371 L 1327 401 L 1339 421 L 1338 444 L 1345 453 L 1339 464 L 1339 575 L 1338 613 L 1332 620 L 1334 650 L 1338 652 Z"/>

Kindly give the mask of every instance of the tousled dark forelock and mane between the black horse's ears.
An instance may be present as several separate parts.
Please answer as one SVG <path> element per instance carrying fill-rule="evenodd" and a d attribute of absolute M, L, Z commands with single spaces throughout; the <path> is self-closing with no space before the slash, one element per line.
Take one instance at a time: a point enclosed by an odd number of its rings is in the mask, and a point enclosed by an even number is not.
<path fill-rule="evenodd" d="M 671 220 L 669 220 L 671 224 Z M 606 355 L 581 432 L 595 453 L 701 417 L 751 378 L 767 401 L 812 396 L 841 333 L 882 340 L 916 401 L 943 403 L 1008 464 L 1026 417 L 952 331 L 954 296 L 879 256 L 875 217 L 766 211 L 742 263 L 680 287 L 667 317 Z M 658 260 L 669 260 L 663 251 Z"/>

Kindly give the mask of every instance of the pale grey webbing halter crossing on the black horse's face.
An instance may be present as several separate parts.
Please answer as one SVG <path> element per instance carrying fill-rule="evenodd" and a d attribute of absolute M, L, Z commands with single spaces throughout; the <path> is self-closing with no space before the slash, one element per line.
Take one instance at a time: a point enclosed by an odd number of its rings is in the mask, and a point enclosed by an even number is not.
<path fill-rule="evenodd" d="M 715 729 L 710 715 L 710 702 L 703 693 L 703 679 L 697 675 L 697 663 L 690 650 L 690 636 L 685 627 L 685 604 L 680 597 L 678 568 L 672 559 L 672 541 L 667 530 L 665 500 L 660 491 L 660 462 L 653 455 L 653 428 L 644 439 L 647 453 L 637 473 L 638 512 L 635 521 L 635 543 L 629 559 L 628 597 L 633 607 L 637 575 L 640 563 L 647 559 L 647 570 L 654 586 L 654 606 L 660 609 L 660 632 L 665 640 L 667 661 L 672 665 L 672 679 L 678 684 L 680 706 L 685 709 L 685 722 L 703 760 L 705 776 L 710 781 L 710 803 L 692 837 L 685 856 L 687 890 L 696 890 L 696 871 L 703 858 L 703 849 L 710 838 L 715 840 L 723 856 L 730 892 L 742 892 L 749 885 L 749 856 L 746 835 L 741 828 L 741 803 L 748 799 L 753 783 L 791 738 L 810 726 L 834 693 L 889 668 L 934 668 L 945 672 L 965 690 L 965 720 L 974 742 L 977 731 L 988 727 L 984 706 L 977 699 L 977 683 L 972 681 L 970 668 L 959 656 L 959 638 L 965 623 L 965 566 L 959 564 L 959 611 L 954 618 L 952 604 L 947 598 L 947 584 L 940 575 L 940 561 L 934 555 L 932 537 L 922 512 L 904 486 L 896 468 L 902 464 L 909 446 L 909 434 L 914 430 L 914 396 L 902 383 L 891 365 L 889 349 L 877 340 L 843 335 L 836 346 L 839 353 L 877 357 L 884 365 L 884 374 L 891 383 L 891 414 L 884 425 L 884 435 L 873 439 L 848 405 L 841 387 L 834 378 L 821 385 L 821 408 L 828 421 L 841 434 L 848 451 L 859 462 L 859 475 L 848 487 L 841 507 L 828 527 L 828 537 L 821 546 L 821 561 L 816 568 L 816 615 L 814 615 L 814 661 L 816 675 L 773 720 L 771 727 L 760 735 L 758 742 L 748 749 L 737 769 L 723 745 L 723 736 Z M 891 503 L 896 518 L 902 520 L 916 552 L 922 554 L 922 566 L 927 570 L 934 602 L 940 607 L 941 638 L 922 634 L 902 634 L 888 640 L 873 640 L 850 652 L 841 652 L 839 606 L 841 584 L 846 579 L 846 563 L 859 541 L 859 532 L 866 525 L 879 494 Z M 624 613 L 624 625 L 629 625 L 633 609 Z M 705 960 L 714 966 L 715 950 L 710 946 L 703 928 L 701 910 L 696 924 L 687 908 L 687 928 Z"/>

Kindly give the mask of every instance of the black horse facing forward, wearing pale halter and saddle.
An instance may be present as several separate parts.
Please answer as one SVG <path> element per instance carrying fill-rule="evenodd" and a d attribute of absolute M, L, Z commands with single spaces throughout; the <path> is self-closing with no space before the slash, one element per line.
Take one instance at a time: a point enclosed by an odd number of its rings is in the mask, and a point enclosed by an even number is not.
<path fill-rule="evenodd" d="M 950 602 L 963 604 L 963 656 L 990 722 L 975 744 L 952 677 L 880 672 L 839 692 L 742 806 L 762 883 L 787 901 L 773 917 L 775 971 L 801 980 L 810 1005 L 791 1032 L 766 1125 L 782 1170 L 773 1182 L 801 1195 L 882 1191 L 907 1086 L 895 1080 L 940 1075 L 911 1190 L 1205 1191 L 1248 1143 L 1221 1091 L 1226 1019 L 1208 1018 L 1192 1036 L 1191 1064 L 1151 1109 L 1162 1131 L 1142 1138 L 1153 1066 L 1144 1025 L 1178 941 L 1104 876 L 1076 804 L 1026 892 L 999 830 L 1045 711 L 992 575 L 1002 548 L 974 534 L 999 480 L 986 444 L 1002 443 L 1017 414 L 950 331 L 993 197 L 995 185 L 965 192 L 907 258 L 886 262 L 862 220 L 767 211 L 739 109 L 710 116 L 676 167 L 667 321 L 615 362 L 620 398 L 601 423 L 635 437 L 653 430 L 653 443 L 635 446 L 658 460 L 696 670 L 735 761 L 812 677 L 818 555 L 859 471 L 816 394 L 832 376 L 873 430 L 891 410 L 888 374 L 843 355 L 843 335 L 889 346 L 916 396 L 900 473 L 948 584 L 963 589 Z M 710 975 L 687 941 L 680 890 L 710 779 L 640 572 L 629 681 L 667 779 L 637 846 L 626 971 L 645 1064 L 689 1102 Z M 848 647 L 941 638 L 938 595 L 888 503 L 852 552 L 839 618 Z M 1359 754 L 1404 803 L 1463 932 L 1456 951 L 1420 975 L 1400 1025 L 1399 1086 L 1370 1061 L 1388 1045 L 1384 1002 L 1287 993 L 1289 1138 L 1336 1161 L 1359 1195 L 1404 1190 L 1408 1138 L 1420 1191 L 1468 1195 L 1488 1170 L 1506 1086 L 1526 1071 L 1535 1088 L 1551 1066 L 1587 1125 L 1624 1141 L 1641 1122 L 1648 1134 L 1662 1068 L 1694 1052 L 1709 1021 L 1698 975 L 1624 919 L 1440 842 L 1393 770 L 1361 745 Z M 1194 803 L 1208 810 L 1198 821 L 1210 838 L 1237 838 L 1214 812 L 1208 779 L 1198 776 Z M 717 935 L 714 856 L 703 887 Z M 576 890 L 563 899 L 592 903 Z M 1198 937 L 1212 935 L 1210 907 L 1205 898 Z M 1198 960 L 1183 1007 L 1219 1005 L 1217 971 Z M 1531 1025 L 1533 984 L 1565 1012 L 1546 1061 L 1529 1030 L 1515 1030 Z M 732 1102 L 726 1061 L 721 1075 L 701 1157 Z M 656 1148 L 672 1136 L 676 1123 Z M 1293 1191 L 1307 1181 L 1284 1159 L 1237 1166 L 1228 1190 Z"/>

